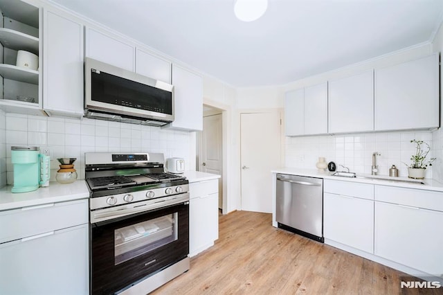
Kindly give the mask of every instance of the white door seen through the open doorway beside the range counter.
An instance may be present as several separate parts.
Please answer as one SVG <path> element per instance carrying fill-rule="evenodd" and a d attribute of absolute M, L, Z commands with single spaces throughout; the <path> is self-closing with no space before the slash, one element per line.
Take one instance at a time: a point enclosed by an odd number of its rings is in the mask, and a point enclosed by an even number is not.
<path fill-rule="evenodd" d="M 201 132 L 201 172 L 222 176 L 223 152 L 221 133 L 221 114 L 203 117 L 203 132 Z M 223 206 L 223 180 L 219 181 L 219 208 Z"/>

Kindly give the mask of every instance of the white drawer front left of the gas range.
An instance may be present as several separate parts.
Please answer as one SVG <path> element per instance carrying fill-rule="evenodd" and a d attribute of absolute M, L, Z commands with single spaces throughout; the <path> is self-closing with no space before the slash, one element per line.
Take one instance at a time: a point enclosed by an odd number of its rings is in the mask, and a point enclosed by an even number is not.
<path fill-rule="evenodd" d="M 88 222 L 88 199 L 0 212 L 0 243 Z"/>

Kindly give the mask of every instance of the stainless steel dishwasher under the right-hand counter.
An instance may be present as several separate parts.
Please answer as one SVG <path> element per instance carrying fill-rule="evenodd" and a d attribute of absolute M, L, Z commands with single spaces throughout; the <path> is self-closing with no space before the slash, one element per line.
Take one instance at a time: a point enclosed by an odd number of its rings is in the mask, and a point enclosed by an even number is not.
<path fill-rule="evenodd" d="M 280 229 L 323 238 L 323 179 L 277 174 L 275 220 Z"/>

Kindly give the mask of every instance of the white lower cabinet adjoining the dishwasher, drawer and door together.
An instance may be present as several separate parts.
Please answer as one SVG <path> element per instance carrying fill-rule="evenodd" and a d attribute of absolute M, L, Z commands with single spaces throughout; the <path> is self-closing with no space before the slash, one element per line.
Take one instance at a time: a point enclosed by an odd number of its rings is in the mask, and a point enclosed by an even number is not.
<path fill-rule="evenodd" d="M 374 186 L 325 179 L 324 191 L 325 239 L 374 253 Z"/>

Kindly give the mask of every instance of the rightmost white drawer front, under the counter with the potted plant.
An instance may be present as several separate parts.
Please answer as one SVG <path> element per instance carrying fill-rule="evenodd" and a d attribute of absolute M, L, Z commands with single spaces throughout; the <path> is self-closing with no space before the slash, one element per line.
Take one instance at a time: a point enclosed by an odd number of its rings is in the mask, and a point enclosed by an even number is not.
<path fill-rule="evenodd" d="M 417 208 L 443 211 L 443 193 L 414 188 L 375 186 L 375 200 Z"/>

